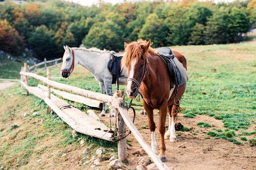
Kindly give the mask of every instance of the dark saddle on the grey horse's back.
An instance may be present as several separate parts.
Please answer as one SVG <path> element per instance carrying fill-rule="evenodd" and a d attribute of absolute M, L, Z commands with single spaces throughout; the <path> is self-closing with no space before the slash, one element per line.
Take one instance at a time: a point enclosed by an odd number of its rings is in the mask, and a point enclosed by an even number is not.
<path fill-rule="evenodd" d="M 118 77 L 122 77 L 121 73 L 121 59 L 123 54 L 118 54 L 115 51 L 110 51 L 110 60 L 108 62 L 108 70 L 112 74 L 112 84 L 116 84 Z"/>

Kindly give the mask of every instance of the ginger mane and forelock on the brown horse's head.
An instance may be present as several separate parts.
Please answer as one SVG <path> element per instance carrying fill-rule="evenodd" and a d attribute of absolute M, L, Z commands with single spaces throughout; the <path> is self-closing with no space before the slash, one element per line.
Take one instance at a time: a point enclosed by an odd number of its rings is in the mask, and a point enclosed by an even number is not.
<path fill-rule="evenodd" d="M 126 66 L 127 68 L 130 68 L 131 61 L 133 59 L 138 59 L 141 57 L 141 54 L 143 53 L 142 46 L 145 45 L 147 41 L 138 39 L 137 41 L 133 41 L 127 45 L 124 51 L 124 56 L 121 61 L 121 67 L 124 68 Z M 147 57 L 149 54 L 154 54 L 155 51 L 149 46 L 148 50 L 145 53 L 145 56 Z"/>

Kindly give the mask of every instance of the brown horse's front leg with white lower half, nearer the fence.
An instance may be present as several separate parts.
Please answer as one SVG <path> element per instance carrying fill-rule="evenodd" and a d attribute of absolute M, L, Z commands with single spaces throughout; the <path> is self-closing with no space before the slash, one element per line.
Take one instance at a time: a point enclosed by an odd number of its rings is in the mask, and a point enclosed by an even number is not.
<path fill-rule="evenodd" d="M 153 109 L 146 103 L 144 100 L 142 100 L 143 107 L 147 112 L 148 116 L 148 127 L 151 133 L 151 149 L 158 154 L 157 152 L 157 141 L 155 136 L 155 130 L 156 130 L 156 124 L 154 122 L 154 116 L 153 116 Z"/>

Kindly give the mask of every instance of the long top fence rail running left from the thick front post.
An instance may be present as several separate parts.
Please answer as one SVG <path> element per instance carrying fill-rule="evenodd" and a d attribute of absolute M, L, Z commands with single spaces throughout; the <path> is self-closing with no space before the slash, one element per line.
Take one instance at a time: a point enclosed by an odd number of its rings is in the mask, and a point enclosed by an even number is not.
<path fill-rule="evenodd" d="M 105 95 L 105 94 L 101 94 L 101 93 L 97 93 L 97 92 L 92 92 L 92 91 L 89 91 L 89 90 L 81 89 L 79 87 L 74 87 L 74 86 L 71 86 L 71 85 L 65 85 L 65 84 L 62 84 L 62 83 L 54 82 L 52 80 L 48 80 L 47 78 L 45 78 L 43 76 L 39 76 L 35 73 L 20 71 L 20 74 L 38 79 L 38 80 L 42 81 L 43 83 L 45 83 L 47 85 L 51 85 L 53 87 L 57 87 L 59 89 L 66 90 L 66 91 L 69 91 L 69 92 L 72 92 L 72 93 L 76 93 L 76 94 L 79 94 L 79 95 L 84 96 L 86 98 L 98 100 L 98 101 L 101 101 L 101 102 L 109 102 L 110 99 L 112 98 L 112 96 L 109 96 L 109 95 Z"/>

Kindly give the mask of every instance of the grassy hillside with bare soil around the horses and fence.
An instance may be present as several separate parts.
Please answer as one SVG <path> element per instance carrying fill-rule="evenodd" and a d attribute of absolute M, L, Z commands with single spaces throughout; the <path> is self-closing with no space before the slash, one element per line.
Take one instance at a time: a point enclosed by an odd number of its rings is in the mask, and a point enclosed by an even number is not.
<path fill-rule="evenodd" d="M 256 168 L 256 39 L 253 38 L 239 44 L 172 47 L 187 58 L 190 80 L 181 101 L 186 111 L 179 114 L 177 122 L 189 129 L 177 132 L 177 143 L 166 141 L 167 165 L 178 170 Z M 59 69 L 51 69 L 51 76 L 59 77 Z M 46 76 L 45 71 L 39 74 Z M 94 77 L 82 67 L 75 68 L 69 79 L 54 80 L 99 92 Z M 29 79 L 29 85 L 37 84 L 38 81 Z M 100 147 L 106 152 L 100 166 L 92 169 L 108 169 L 107 160 L 117 154 L 116 144 L 81 134 L 72 136 L 72 129 L 58 116 L 47 114 L 43 101 L 33 95 L 25 96 L 24 92 L 19 84 L 0 91 L 1 170 L 88 169 Z M 79 103 L 72 104 L 83 111 L 88 109 Z M 141 103 L 135 104 L 135 124 L 150 143 L 147 118 L 139 115 Z M 157 112 L 155 117 L 158 124 Z M 102 120 L 109 124 L 109 119 Z M 199 122 L 204 123 L 197 125 Z M 156 134 L 159 144 L 158 130 Z M 123 169 L 134 169 L 140 156 L 132 153 L 140 148 L 132 135 L 127 143 L 131 145 L 129 164 Z M 83 154 L 89 145 L 93 148 Z"/>

